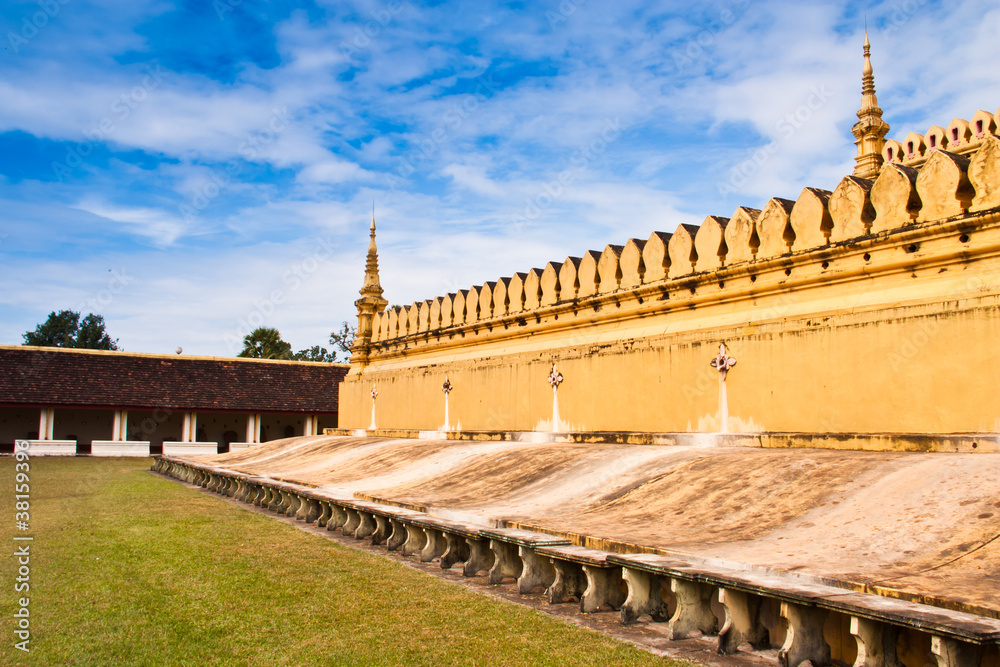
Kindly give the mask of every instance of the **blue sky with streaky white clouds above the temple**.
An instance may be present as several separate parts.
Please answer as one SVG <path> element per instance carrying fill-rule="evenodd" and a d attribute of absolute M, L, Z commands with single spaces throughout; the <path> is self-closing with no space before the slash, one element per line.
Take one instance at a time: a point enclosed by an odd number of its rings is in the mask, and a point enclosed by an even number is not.
<path fill-rule="evenodd" d="M 295 349 L 393 304 L 853 168 L 867 12 L 890 137 L 1000 104 L 992 3 L 0 5 L 0 343 Z M 559 176 L 563 174 L 563 183 Z"/>

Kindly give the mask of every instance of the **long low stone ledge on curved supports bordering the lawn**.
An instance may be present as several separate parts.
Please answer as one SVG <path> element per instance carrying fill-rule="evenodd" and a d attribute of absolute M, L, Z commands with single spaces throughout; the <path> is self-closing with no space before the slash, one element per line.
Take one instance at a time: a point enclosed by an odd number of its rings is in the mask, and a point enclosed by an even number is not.
<path fill-rule="evenodd" d="M 626 625 L 649 617 L 666 624 L 671 640 L 717 636 L 723 655 L 773 647 L 780 667 L 899 667 L 901 634 L 916 632 L 929 637 L 937 667 L 1000 661 L 1000 619 L 681 557 L 590 549 L 169 456 L 154 457 L 152 469 L 443 569 L 461 565 L 466 577 L 485 572 L 490 584 L 514 582 L 520 594 L 541 593 L 552 604 L 578 600 L 583 613 L 617 610 Z M 828 617 L 834 627 L 847 622 L 856 654 L 847 656 L 842 641 L 828 643 Z"/>

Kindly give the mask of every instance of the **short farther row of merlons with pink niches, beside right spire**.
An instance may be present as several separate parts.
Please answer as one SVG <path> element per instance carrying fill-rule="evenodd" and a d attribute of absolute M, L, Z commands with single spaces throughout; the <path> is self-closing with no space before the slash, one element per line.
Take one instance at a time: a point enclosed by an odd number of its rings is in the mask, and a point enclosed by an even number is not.
<path fill-rule="evenodd" d="M 996 113 L 979 110 L 972 120 L 955 118 L 948 127 L 932 126 L 924 134 L 910 132 L 901 141 L 888 139 L 882 148 L 885 164 L 919 168 L 938 151 L 970 157 L 1000 126 L 1000 109 Z"/>

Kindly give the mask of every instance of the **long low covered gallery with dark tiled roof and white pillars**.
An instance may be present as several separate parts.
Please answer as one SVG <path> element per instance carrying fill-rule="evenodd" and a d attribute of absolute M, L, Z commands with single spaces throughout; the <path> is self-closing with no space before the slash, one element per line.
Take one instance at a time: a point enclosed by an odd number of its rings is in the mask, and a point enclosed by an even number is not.
<path fill-rule="evenodd" d="M 337 426 L 348 367 L 0 346 L 0 446 L 146 456 L 240 449 Z"/>

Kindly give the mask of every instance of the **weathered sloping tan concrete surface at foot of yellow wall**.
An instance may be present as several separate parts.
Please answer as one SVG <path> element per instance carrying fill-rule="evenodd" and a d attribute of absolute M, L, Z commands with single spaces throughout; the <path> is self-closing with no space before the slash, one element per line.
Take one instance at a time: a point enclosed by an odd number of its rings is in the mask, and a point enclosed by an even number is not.
<path fill-rule="evenodd" d="M 1000 618 L 1000 456 L 315 436 L 191 457 Z"/>

